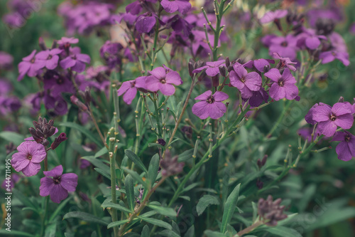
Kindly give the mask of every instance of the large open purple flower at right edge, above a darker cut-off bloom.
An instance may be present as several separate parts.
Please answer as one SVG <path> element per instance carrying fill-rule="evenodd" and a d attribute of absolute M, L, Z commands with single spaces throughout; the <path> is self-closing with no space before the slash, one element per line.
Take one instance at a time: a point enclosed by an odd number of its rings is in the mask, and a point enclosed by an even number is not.
<path fill-rule="evenodd" d="M 337 127 L 344 130 L 351 128 L 354 122 L 352 107 L 344 102 L 337 102 L 330 106 L 317 106 L 313 108 L 312 118 L 318 122 L 318 130 L 327 137 L 332 137 Z"/>

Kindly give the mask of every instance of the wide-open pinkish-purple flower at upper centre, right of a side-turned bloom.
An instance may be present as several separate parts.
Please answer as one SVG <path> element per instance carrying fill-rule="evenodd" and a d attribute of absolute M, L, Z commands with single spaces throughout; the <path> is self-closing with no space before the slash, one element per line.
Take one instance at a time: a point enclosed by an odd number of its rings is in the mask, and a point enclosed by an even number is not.
<path fill-rule="evenodd" d="M 179 73 L 165 67 L 165 65 L 154 68 L 148 73 L 151 75 L 146 78 L 146 88 L 153 92 L 160 90 L 163 95 L 173 95 L 175 93 L 173 85 L 182 84 Z"/>

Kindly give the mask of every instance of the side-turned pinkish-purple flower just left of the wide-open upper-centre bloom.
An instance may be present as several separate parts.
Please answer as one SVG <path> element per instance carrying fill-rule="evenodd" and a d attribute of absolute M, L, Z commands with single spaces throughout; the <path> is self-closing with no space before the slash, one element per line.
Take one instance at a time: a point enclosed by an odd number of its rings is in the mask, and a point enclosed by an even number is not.
<path fill-rule="evenodd" d="M 143 76 L 125 81 L 119 90 L 117 90 L 117 95 L 121 96 L 124 94 L 124 102 L 131 105 L 132 100 L 136 97 L 137 88 L 146 88 L 146 78 L 146 76 Z"/>

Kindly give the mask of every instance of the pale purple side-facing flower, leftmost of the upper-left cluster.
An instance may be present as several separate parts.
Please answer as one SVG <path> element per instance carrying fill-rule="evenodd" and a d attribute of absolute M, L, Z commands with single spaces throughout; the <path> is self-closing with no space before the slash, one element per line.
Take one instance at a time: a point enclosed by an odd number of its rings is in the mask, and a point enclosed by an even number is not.
<path fill-rule="evenodd" d="M 20 73 L 20 75 L 18 75 L 17 80 L 22 80 L 26 73 L 29 77 L 34 77 L 37 75 L 38 70 L 45 66 L 43 60 L 38 60 L 35 57 L 35 50 L 32 51 L 29 56 L 22 58 L 22 60 L 23 61 L 18 64 L 18 73 Z"/>

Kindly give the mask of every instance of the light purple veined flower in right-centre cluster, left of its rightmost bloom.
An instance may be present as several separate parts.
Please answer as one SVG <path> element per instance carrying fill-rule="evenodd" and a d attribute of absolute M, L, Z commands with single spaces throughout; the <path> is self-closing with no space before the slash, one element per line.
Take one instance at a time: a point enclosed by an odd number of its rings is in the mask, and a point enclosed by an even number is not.
<path fill-rule="evenodd" d="M 240 63 L 234 63 L 233 69 L 229 73 L 229 79 L 231 85 L 240 90 L 242 98 L 251 98 L 253 91 L 260 90 L 261 76 L 258 73 L 248 73 Z"/>

